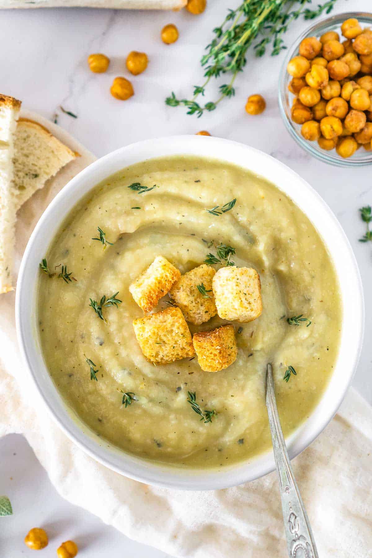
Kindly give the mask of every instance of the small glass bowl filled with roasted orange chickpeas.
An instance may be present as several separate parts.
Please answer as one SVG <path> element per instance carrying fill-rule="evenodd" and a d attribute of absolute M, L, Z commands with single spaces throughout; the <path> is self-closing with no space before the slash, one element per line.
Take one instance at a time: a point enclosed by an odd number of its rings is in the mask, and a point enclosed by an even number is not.
<path fill-rule="evenodd" d="M 292 137 L 338 166 L 372 163 L 372 14 L 331 16 L 288 49 L 279 107 Z"/>

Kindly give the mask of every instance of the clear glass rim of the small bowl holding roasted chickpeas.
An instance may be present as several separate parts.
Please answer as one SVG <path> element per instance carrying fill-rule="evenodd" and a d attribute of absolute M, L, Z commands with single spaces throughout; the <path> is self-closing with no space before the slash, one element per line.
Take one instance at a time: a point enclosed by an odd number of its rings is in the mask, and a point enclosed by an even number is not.
<path fill-rule="evenodd" d="M 364 23 L 370 23 L 372 25 L 372 13 L 368 12 L 344 12 L 344 13 L 336 13 L 332 16 L 326 17 L 323 20 L 317 21 L 313 23 L 310 27 L 308 27 L 305 31 L 301 33 L 297 37 L 295 41 L 292 42 L 291 46 L 288 47 L 286 51 L 286 56 L 281 65 L 281 69 L 279 71 L 279 79 L 278 79 L 278 104 L 279 104 L 279 112 L 281 113 L 282 120 L 284 122 L 284 126 L 286 127 L 289 134 L 292 138 L 296 141 L 296 143 L 302 147 L 307 153 L 316 157 L 318 160 L 328 163 L 328 165 L 333 165 L 337 167 L 362 167 L 366 165 L 372 165 L 372 152 L 366 152 L 365 156 L 359 158 L 342 158 L 340 155 L 334 153 L 334 150 L 325 151 L 321 150 L 321 148 L 315 147 L 317 142 L 311 142 L 302 138 L 301 133 L 296 128 L 299 124 L 293 123 L 293 121 L 289 118 L 286 112 L 286 102 L 285 96 L 288 94 L 287 91 L 287 81 L 289 81 L 288 74 L 287 74 L 287 65 L 289 60 L 292 59 L 293 56 L 296 55 L 298 51 L 298 46 L 303 39 L 306 39 L 308 36 L 317 35 L 318 30 L 322 30 L 325 32 L 325 28 L 331 27 L 334 25 L 338 25 L 342 21 L 345 21 L 349 18 L 356 18 L 361 20 Z M 345 37 L 341 37 L 341 39 Z"/>

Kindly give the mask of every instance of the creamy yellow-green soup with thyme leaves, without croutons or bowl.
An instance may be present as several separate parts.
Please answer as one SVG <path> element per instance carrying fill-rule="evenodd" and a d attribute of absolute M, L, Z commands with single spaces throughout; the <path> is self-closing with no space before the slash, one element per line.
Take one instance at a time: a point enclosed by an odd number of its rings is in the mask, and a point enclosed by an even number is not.
<path fill-rule="evenodd" d="M 187 324 L 191 334 L 233 325 L 238 354 L 227 368 L 204 372 L 195 354 L 168 364 L 144 357 L 133 320 L 145 314 L 129 285 L 157 256 L 181 274 L 205 261 L 259 273 L 257 319 Z M 172 304 L 165 293 L 153 312 Z M 38 313 L 51 377 L 102 443 L 221 468 L 270 448 L 268 362 L 284 434 L 314 410 L 337 358 L 342 311 L 327 249 L 291 199 L 229 163 L 178 156 L 123 169 L 79 202 L 41 263 Z"/>

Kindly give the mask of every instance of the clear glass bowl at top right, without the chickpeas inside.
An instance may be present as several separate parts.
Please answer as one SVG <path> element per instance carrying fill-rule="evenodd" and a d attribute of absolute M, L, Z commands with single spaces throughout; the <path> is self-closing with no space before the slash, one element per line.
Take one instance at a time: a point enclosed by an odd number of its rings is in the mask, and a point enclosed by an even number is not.
<path fill-rule="evenodd" d="M 287 50 L 287 56 L 283 62 L 281 73 L 279 76 L 279 108 L 288 132 L 305 151 L 311 153 L 311 155 L 325 163 L 330 163 L 331 165 L 343 167 L 360 167 L 372 164 L 372 151 L 365 151 L 363 147 L 360 147 L 354 153 L 354 155 L 344 159 L 337 154 L 335 149 L 333 149 L 332 151 L 325 151 L 318 146 L 317 141 L 311 142 L 305 140 L 305 138 L 301 136 L 301 125 L 294 123 L 291 118 L 291 108 L 294 95 L 288 90 L 288 84 L 289 81 L 291 81 L 292 76 L 287 73 L 287 64 L 289 60 L 293 58 L 293 56 L 298 55 L 298 47 L 302 39 L 312 36 L 320 37 L 327 31 L 337 31 L 337 33 L 339 33 L 341 36 L 341 24 L 350 17 L 356 17 L 356 19 L 359 20 L 363 27 L 372 27 L 371 13 L 340 13 L 335 16 L 327 17 L 325 20 L 315 23 L 315 25 L 309 27 Z"/>

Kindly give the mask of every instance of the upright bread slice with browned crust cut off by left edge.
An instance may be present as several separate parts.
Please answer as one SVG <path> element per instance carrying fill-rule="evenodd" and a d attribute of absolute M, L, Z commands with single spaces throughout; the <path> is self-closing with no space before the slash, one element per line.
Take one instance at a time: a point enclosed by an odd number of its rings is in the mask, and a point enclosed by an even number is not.
<path fill-rule="evenodd" d="M 21 101 L 0 95 L 0 293 L 13 290 L 16 208 L 12 195 L 14 133 Z"/>

